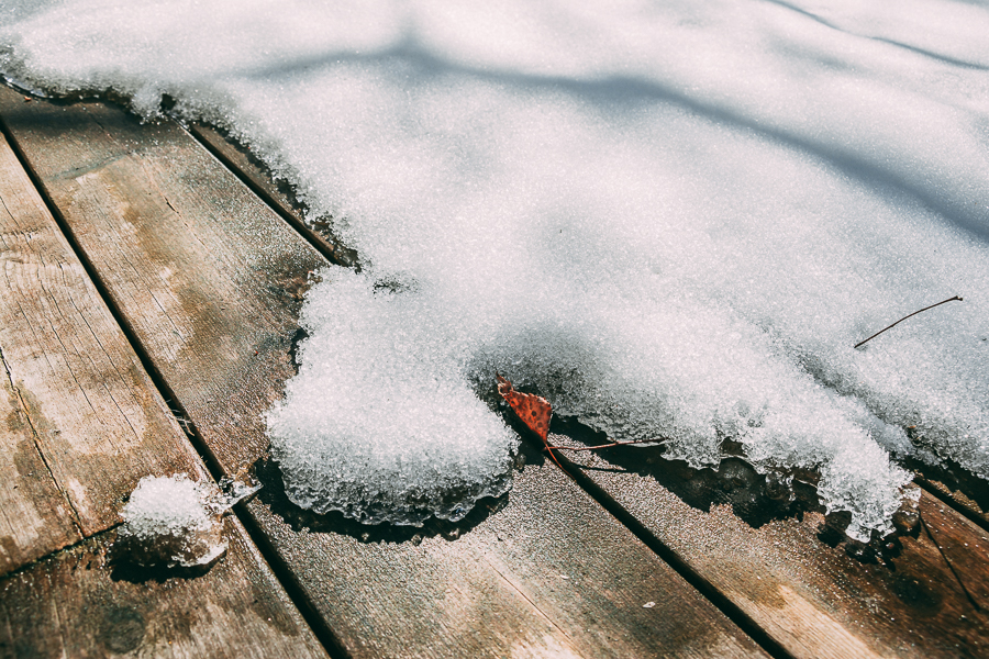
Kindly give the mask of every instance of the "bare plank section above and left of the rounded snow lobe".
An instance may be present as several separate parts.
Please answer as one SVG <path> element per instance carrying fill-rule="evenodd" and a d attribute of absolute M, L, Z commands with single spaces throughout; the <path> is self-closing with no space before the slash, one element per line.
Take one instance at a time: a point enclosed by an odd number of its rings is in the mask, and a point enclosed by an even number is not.
<path fill-rule="evenodd" d="M 257 411 L 279 393 L 269 381 L 292 372 L 284 310 L 324 261 L 236 179 L 216 179 L 216 161 L 174 124 L 24 103 L 10 90 L 0 99 L 75 238 L 113 275 L 131 330 L 169 381 L 188 384 L 182 403 L 216 438 L 216 459 L 234 472 L 254 462 L 267 447 Z"/>

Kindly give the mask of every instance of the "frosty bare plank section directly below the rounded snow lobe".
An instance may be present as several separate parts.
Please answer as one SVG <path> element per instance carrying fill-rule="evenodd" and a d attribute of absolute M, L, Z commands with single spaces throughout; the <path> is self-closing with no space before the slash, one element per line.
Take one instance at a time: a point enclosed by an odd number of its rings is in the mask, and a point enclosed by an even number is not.
<path fill-rule="evenodd" d="M 333 522 L 293 514 L 277 485 L 251 507 L 355 657 L 754 651 L 555 465 L 525 451 L 532 462 L 515 474 L 507 505 L 456 527 L 455 540 L 447 527 L 427 527 L 419 545 L 375 529 L 362 538 L 356 525 L 325 533 Z"/>

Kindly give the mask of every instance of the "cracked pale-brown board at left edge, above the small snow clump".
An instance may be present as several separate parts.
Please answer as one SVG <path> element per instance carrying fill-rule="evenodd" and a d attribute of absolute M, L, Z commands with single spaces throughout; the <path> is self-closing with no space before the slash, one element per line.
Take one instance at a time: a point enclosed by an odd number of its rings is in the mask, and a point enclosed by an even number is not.
<path fill-rule="evenodd" d="M 0 136 L 0 574 L 120 521 L 199 460 Z"/>

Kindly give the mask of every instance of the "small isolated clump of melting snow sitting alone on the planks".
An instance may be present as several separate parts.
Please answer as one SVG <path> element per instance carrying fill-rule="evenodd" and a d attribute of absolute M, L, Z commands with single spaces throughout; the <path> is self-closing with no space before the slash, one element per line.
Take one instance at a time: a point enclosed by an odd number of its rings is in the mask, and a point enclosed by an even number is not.
<path fill-rule="evenodd" d="M 212 483 L 186 474 L 146 476 L 124 506 L 115 551 L 141 566 L 209 566 L 226 552 L 223 514 L 257 487 L 230 483 L 221 493 Z"/>

